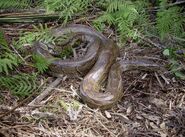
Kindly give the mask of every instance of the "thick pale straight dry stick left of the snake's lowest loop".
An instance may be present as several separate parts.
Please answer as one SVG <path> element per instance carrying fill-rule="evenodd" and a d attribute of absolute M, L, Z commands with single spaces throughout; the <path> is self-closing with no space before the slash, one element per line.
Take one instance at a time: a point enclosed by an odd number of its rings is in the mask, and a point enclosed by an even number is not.
<path fill-rule="evenodd" d="M 54 87 L 58 86 L 58 84 L 62 81 L 62 78 L 57 78 L 54 82 L 52 82 L 46 90 L 44 90 L 39 96 L 37 96 L 32 102 L 28 104 L 28 106 L 38 105 L 46 96 L 48 96 Z"/>

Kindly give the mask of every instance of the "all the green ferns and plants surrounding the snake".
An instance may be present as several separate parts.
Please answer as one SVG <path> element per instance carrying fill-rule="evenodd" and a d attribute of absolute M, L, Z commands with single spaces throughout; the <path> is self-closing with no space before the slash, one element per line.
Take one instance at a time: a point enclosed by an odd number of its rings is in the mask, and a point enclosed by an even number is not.
<path fill-rule="evenodd" d="M 180 63 L 185 53 L 182 55 L 176 53 L 184 48 L 185 41 L 185 14 L 179 5 L 169 6 L 170 2 L 167 0 L 158 0 L 155 8 L 151 7 L 148 0 L 39 0 L 34 4 L 37 8 L 44 8 L 46 15 L 58 14 L 58 21 L 60 20 L 62 25 L 80 17 L 88 18 L 93 13 L 95 17 L 89 22 L 99 31 L 103 31 L 106 27 L 112 28 L 121 43 L 126 43 L 128 40 L 139 43 L 142 41 L 141 37 L 150 39 L 155 36 L 165 45 L 163 54 L 170 60 L 169 70 L 176 77 L 185 79 L 184 69 Z M 33 3 L 29 0 L 0 1 L 0 9 L 19 10 L 32 6 Z M 32 32 L 21 32 L 19 40 L 12 43 L 20 53 L 25 45 L 31 45 L 35 40 L 46 44 L 56 43 L 56 38 L 51 36 L 51 28 L 47 25 L 33 25 L 33 28 Z M 2 31 L 0 31 L 0 45 L 0 85 L 13 91 L 15 95 L 28 95 L 36 88 L 35 74 L 45 72 L 50 61 L 31 55 L 33 62 L 28 61 L 25 64 L 10 48 Z M 61 57 L 68 57 L 71 52 L 71 49 L 66 48 L 61 52 Z M 29 57 L 23 55 L 23 58 Z M 26 75 L 22 72 L 15 73 L 14 70 L 21 65 L 35 67 L 37 71 Z"/>

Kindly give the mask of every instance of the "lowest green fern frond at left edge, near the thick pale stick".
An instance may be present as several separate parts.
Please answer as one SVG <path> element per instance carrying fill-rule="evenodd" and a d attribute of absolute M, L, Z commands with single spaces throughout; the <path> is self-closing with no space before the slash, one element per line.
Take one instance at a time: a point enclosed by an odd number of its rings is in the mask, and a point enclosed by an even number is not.
<path fill-rule="evenodd" d="M 14 76 L 1 76 L 0 87 L 9 89 L 13 95 L 25 97 L 37 88 L 36 74 L 19 74 Z"/>

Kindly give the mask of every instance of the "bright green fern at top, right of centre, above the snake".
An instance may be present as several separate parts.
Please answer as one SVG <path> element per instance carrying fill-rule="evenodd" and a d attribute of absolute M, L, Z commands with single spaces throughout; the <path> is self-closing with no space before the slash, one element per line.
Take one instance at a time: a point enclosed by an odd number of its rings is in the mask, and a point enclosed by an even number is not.
<path fill-rule="evenodd" d="M 103 15 L 94 20 L 95 27 L 100 28 L 108 23 L 117 27 L 122 40 L 135 38 L 133 25 L 139 15 L 136 6 L 131 1 L 108 0 L 106 7 Z"/>

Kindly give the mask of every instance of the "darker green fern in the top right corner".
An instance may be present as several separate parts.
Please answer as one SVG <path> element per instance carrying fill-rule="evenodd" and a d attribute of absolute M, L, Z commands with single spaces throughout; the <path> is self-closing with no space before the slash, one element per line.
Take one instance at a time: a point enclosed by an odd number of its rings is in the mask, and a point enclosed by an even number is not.
<path fill-rule="evenodd" d="M 162 39 L 169 34 L 181 37 L 184 32 L 183 23 L 184 18 L 179 7 L 171 7 L 157 13 L 157 29 Z"/>

